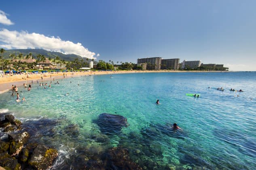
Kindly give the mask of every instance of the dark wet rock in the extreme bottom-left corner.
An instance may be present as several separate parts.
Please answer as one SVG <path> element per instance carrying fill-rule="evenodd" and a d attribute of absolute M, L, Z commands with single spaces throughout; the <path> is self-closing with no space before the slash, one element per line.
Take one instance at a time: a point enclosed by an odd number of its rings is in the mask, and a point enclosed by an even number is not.
<path fill-rule="evenodd" d="M 18 161 L 7 153 L 0 153 L 0 166 L 6 170 L 20 170 L 21 165 Z"/>

